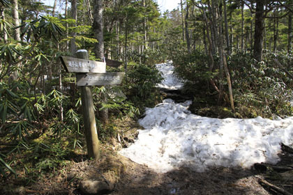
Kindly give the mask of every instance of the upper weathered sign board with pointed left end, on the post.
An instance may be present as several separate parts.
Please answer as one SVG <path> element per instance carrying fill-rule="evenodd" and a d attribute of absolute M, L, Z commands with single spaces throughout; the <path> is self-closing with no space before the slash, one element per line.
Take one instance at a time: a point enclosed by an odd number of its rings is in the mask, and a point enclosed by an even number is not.
<path fill-rule="evenodd" d="M 100 61 L 61 56 L 61 62 L 67 72 L 106 72 L 106 63 Z"/>

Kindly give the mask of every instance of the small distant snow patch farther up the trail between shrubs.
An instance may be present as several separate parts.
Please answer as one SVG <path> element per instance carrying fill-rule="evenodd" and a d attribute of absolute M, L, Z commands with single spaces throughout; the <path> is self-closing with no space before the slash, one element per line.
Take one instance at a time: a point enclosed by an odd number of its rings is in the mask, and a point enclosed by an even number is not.
<path fill-rule="evenodd" d="M 156 64 L 156 68 L 162 72 L 163 82 L 158 84 L 159 88 L 167 88 L 170 90 L 180 89 L 183 87 L 183 82 L 181 79 L 174 75 L 174 66 L 172 65 L 172 61 L 167 63 Z"/>

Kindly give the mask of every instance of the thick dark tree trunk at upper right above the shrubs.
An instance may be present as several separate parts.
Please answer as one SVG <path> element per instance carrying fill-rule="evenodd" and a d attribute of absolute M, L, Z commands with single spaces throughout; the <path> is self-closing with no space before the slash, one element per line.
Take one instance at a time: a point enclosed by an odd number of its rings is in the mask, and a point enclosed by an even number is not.
<path fill-rule="evenodd" d="M 255 10 L 255 41 L 253 45 L 253 57 L 262 61 L 262 41 L 264 39 L 264 1 L 256 0 Z"/>

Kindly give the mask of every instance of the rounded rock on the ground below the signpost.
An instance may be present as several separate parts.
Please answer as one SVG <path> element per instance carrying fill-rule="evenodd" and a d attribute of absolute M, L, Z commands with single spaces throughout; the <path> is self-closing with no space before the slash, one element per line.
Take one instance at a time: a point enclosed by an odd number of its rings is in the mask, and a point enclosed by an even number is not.
<path fill-rule="evenodd" d="M 99 180 L 82 180 L 80 182 L 82 194 L 109 194 L 113 189 L 114 185 L 110 182 Z"/>

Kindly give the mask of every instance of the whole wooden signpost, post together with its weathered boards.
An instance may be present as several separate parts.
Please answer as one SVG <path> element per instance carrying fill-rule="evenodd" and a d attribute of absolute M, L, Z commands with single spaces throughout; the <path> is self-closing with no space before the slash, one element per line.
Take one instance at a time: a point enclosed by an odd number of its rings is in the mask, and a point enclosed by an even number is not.
<path fill-rule="evenodd" d="M 106 72 L 106 63 L 90 61 L 87 50 L 78 50 L 77 58 L 61 56 L 61 62 L 68 72 L 75 72 L 77 86 L 81 86 L 82 114 L 84 118 L 84 132 L 87 140 L 87 153 L 89 157 L 99 159 L 100 144 L 96 128 L 95 113 L 93 110 L 93 95 L 91 86 L 117 85 L 125 75 L 124 72 Z M 110 61 L 112 65 L 120 65 L 120 62 Z"/>

